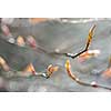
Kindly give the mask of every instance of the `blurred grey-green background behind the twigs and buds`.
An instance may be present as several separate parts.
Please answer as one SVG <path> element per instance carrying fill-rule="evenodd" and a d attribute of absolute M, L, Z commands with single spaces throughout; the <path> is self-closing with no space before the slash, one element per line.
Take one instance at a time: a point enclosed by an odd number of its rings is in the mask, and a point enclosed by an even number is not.
<path fill-rule="evenodd" d="M 13 38 L 18 36 L 33 36 L 38 46 L 52 52 L 60 49 L 61 52 L 77 53 L 84 48 L 89 29 L 97 24 L 95 33 L 90 49 L 99 49 L 101 53 L 97 58 L 88 59 L 80 63 L 78 59 L 70 59 L 72 71 L 83 81 L 90 83 L 97 81 L 99 84 L 111 88 L 111 78 L 104 78 L 111 54 L 111 20 L 107 18 L 53 18 L 37 23 L 30 23 L 28 18 L 13 19 L 9 24 Z M 0 38 L 6 38 L 0 31 Z M 9 65 L 16 70 L 22 70 L 32 62 L 37 71 L 44 71 L 51 64 L 58 64 L 60 69 L 49 79 L 42 77 L 32 78 L 4 78 L 7 74 L 0 69 L 1 91 L 48 91 L 48 92 L 100 92 L 109 91 L 100 88 L 83 87 L 71 80 L 64 69 L 65 60 L 69 58 L 49 56 L 38 49 L 22 49 L 0 40 L 0 54 L 4 57 Z"/>

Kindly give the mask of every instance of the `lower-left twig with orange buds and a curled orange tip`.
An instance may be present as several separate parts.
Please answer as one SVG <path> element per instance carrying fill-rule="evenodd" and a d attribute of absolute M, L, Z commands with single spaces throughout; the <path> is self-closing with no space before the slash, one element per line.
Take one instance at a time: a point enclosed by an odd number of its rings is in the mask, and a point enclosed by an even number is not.
<path fill-rule="evenodd" d="M 58 71 L 59 67 L 57 65 L 48 65 L 48 68 L 46 69 L 44 72 L 37 72 L 33 64 L 29 63 L 29 65 L 27 65 L 27 68 L 23 71 L 18 71 L 14 70 L 12 68 L 10 68 L 7 63 L 7 61 L 0 57 L 0 67 L 2 68 L 2 70 L 7 73 L 10 72 L 10 75 L 7 77 L 30 77 L 30 75 L 36 75 L 36 77 L 43 77 L 46 79 L 50 78 L 53 72 Z"/>

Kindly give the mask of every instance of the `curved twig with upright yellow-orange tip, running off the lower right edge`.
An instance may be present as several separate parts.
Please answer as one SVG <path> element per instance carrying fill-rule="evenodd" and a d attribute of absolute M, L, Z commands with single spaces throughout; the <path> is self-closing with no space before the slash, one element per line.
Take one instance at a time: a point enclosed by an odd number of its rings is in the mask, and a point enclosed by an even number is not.
<path fill-rule="evenodd" d="M 99 85 L 99 84 L 97 84 L 95 82 L 87 83 L 87 82 L 80 80 L 75 74 L 72 73 L 72 71 L 71 71 L 71 64 L 70 64 L 70 61 L 69 61 L 69 60 L 67 60 L 67 62 L 65 62 L 65 69 L 67 69 L 68 75 L 69 75 L 72 80 L 74 80 L 77 83 L 79 83 L 79 84 L 81 84 L 81 85 L 84 85 L 84 87 L 92 87 L 92 88 L 102 88 L 102 89 L 111 90 L 111 88 L 103 87 L 103 85 Z"/>

